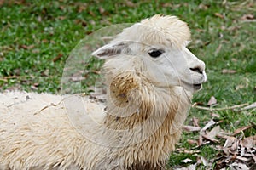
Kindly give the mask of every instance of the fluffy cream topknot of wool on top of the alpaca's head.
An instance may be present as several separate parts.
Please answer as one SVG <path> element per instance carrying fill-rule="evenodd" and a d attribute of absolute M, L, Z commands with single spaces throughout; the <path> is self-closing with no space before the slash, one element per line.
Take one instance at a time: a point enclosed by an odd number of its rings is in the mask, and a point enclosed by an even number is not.
<path fill-rule="evenodd" d="M 190 41 L 190 31 L 187 23 L 176 16 L 155 14 L 126 28 L 114 41 L 124 39 L 148 45 L 161 44 L 181 48 Z"/>

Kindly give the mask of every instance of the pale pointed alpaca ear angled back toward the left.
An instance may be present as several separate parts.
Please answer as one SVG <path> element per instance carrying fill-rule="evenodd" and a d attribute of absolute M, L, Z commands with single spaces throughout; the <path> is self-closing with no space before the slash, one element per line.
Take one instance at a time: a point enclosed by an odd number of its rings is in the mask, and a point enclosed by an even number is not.
<path fill-rule="evenodd" d="M 103 47 L 98 48 L 92 55 L 100 59 L 107 59 L 108 57 L 119 54 L 128 54 L 129 51 L 131 50 L 128 48 L 127 42 L 110 42 Z"/>

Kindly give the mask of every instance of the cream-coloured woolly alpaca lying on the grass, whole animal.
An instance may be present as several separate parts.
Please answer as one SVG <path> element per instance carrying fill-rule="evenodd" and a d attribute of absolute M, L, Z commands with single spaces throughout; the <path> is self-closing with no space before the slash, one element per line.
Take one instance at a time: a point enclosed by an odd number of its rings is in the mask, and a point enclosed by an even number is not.
<path fill-rule="evenodd" d="M 207 80 L 189 40 L 185 22 L 157 14 L 98 48 L 106 104 L 0 94 L 0 169 L 165 169 L 192 94 Z"/>

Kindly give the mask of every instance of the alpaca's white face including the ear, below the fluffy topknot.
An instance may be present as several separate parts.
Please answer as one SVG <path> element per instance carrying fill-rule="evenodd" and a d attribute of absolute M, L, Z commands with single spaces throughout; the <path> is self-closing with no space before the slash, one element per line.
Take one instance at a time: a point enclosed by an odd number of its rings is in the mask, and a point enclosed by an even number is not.
<path fill-rule="evenodd" d="M 185 45 L 170 48 L 141 42 L 111 42 L 93 55 L 108 59 L 117 71 L 137 71 L 158 87 L 181 86 L 191 92 L 207 81 L 205 64 Z"/>

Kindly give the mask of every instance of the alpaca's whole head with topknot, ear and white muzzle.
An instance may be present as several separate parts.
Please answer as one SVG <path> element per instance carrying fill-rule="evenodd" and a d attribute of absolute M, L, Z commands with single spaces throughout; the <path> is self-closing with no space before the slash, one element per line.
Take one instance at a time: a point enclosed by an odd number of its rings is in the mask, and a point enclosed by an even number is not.
<path fill-rule="evenodd" d="M 204 62 L 186 48 L 189 40 L 185 22 L 158 14 L 126 28 L 93 55 L 112 63 L 113 74 L 142 72 L 154 86 L 195 92 L 207 76 Z"/>

